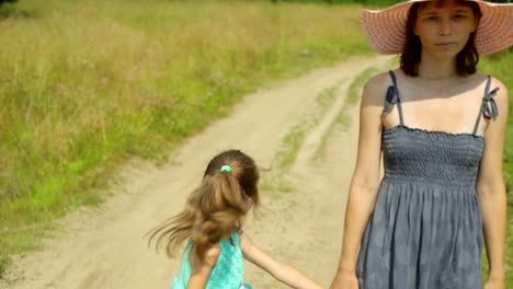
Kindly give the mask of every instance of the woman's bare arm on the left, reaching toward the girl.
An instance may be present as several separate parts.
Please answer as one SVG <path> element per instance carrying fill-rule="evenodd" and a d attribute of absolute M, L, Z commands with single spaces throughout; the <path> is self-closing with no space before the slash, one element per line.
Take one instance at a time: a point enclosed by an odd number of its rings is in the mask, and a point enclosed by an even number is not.
<path fill-rule="evenodd" d="M 383 104 L 388 74 L 371 79 L 363 91 L 360 109 L 360 137 L 356 166 L 345 211 L 344 238 L 339 269 L 331 288 L 357 288 L 356 257 L 368 218 L 374 209 L 380 183 Z M 392 113 L 397 114 L 394 107 Z"/>

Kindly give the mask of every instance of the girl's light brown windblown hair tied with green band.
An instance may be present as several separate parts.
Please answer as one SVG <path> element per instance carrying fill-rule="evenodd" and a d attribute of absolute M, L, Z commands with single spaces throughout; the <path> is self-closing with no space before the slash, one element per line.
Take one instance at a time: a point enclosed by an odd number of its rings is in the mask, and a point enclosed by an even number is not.
<path fill-rule="evenodd" d="M 231 172 L 221 172 L 224 165 L 229 165 Z M 157 236 L 157 250 L 164 242 L 168 256 L 172 256 L 191 238 L 203 258 L 209 245 L 240 229 L 246 213 L 259 205 L 259 178 L 254 161 L 241 151 L 216 155 L 200 186 L 189 196 L 185 209 L 151 230 L 149 242 Z"/>

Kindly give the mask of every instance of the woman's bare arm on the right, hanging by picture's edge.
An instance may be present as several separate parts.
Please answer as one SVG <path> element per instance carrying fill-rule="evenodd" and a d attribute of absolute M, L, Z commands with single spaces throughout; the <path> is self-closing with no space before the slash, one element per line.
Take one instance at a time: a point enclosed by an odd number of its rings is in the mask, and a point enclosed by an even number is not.
<path fill-rule="evenodd" d="M 500 90 L 494 96 L 499 116 L 489 122 L 485 131 L 485 152 L 479 166 L 477 194 L 482 212 L 483 233 L 489 263 L 489 282 L 505 288 L 504 243 L 506 224 L 506 197 L 502 175 L 504 137 L 508 123 L 508 91 L 498 80 L 493 86 Z"/>

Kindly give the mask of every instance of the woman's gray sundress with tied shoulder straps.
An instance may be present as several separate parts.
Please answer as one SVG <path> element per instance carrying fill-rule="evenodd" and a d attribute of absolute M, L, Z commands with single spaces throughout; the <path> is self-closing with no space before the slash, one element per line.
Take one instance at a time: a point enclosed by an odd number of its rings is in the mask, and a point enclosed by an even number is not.
<path fill-rule="evenodd" d="M 482 219 L 476 178 L 485 148 L 481 114 L 498 115 L 488 77 L 472 134 L 411 128 L 402 119 L 396 77 L 385 113 L 400 125 L 384 129 L 385 176 L 356 265 L 361 289 L 481 288 Z"/>

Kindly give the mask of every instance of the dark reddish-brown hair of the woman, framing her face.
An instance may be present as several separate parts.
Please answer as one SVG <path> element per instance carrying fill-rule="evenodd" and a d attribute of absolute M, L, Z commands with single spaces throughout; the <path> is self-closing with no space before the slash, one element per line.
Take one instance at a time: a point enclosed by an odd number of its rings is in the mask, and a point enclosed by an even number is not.
<path fill-rule="evenodd" d="M 414 34 L 413 27 L 417 22 L 418 13 L 424 9 L 429 2 L 413 3 L 408 11 L 408 20 L 406 26 L 406 39 L 401 53 L 401 69 L 407 76 L 419 76 L 419 63 L 421 61 L 422 44 L 419 37 Z M 479 4 L 472 1 L 456 0 L 457 4 L 467 5 L 472 9 L 474 18 L 477 23 L 481 19 L 481 10 Z M 436 0 L 436 5 L 443 5 L 444 0 Z M 456 72 L 459 76 L 468 76 L 476 72 L 476 66 L 479 61 L 479 54 L 476 48 L 476 32 L 470 33 L 467 44 L 456 56 Z"/>

